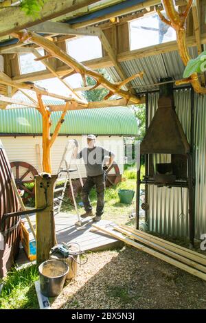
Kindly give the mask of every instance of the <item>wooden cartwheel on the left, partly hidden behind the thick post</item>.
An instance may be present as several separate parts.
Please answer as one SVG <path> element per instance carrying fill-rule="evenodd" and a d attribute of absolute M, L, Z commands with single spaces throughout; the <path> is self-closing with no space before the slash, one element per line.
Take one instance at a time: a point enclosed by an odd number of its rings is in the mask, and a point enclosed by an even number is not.
<path fill-rule="evenodd" d="M 25 163 L 25 161 L 12 161 L 10 165 L 12 168 L 12 172 L 14 174 L 17 188 L 19 188 L 20 190 L 25 190 L 25 192 L 28 193 L 28 197 L 24 198 L 24 200 L 27 201 L 27 199 L 29 199 L 30 197 L 34 197 L 35 188 L 33 188 L 32 190 L 29 190 L 29 188 L 25 186 L 25 183 L 34 183 L 34 176 L 38 175 L 36 168 L 34 168 L 34 166 L 28 163 Z M 23 175 L 21 175 L 21 177 L 19 175 L 19 167 L 25 168 Z M 27 175 L 29 175 L 31 179 L 25 179 Z"/>

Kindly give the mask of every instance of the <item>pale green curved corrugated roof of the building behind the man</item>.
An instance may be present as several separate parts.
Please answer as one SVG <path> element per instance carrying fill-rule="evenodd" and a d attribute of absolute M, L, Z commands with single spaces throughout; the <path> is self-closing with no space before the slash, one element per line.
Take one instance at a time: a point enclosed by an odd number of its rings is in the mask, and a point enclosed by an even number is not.
<path fill-rule="evenodd" d="M 52 113 L 52 129 L 54 132 L 61 112 Z M 42 117 L 36 109 L 0 110 L 0 133 L 41 134 Z M 137 135 L 137 120 L 133 112 L 126 107 L 102 109 L 84 109 L 68 111 L 60 134 L 84 135 Z"/>

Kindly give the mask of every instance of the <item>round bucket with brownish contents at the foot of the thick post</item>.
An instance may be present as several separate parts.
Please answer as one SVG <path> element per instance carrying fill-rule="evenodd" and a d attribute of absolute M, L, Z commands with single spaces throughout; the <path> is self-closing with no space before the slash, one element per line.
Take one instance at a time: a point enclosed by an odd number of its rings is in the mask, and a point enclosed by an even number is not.
<path fill-rule="evenodd" d="M 63 289 L 69 266 L 61 260 L 47 260 L 38 267 L 41 293 L 58 296 Z"/>

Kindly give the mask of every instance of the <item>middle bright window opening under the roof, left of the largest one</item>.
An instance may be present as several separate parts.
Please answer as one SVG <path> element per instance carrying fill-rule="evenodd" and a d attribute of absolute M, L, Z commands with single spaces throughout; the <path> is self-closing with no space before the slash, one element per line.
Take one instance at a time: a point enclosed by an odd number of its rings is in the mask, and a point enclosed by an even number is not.
<path fill-rule="evenodd" d="M 97 36 L 83 36 L 67 41 L 67 53 L 78 60 L 102 57 L 102 44 Z"/>

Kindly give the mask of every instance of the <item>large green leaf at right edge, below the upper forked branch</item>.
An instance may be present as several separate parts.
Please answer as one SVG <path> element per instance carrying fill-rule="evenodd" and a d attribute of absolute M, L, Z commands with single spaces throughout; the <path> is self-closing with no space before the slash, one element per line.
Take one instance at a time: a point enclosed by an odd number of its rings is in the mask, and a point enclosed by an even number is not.
<path fill-rule="evenodd" d="M 183 74 L 184 78 L 189 78 L 194 73 L 206 71 L 206 51 L 198 57 L 189 60 Z"/>

